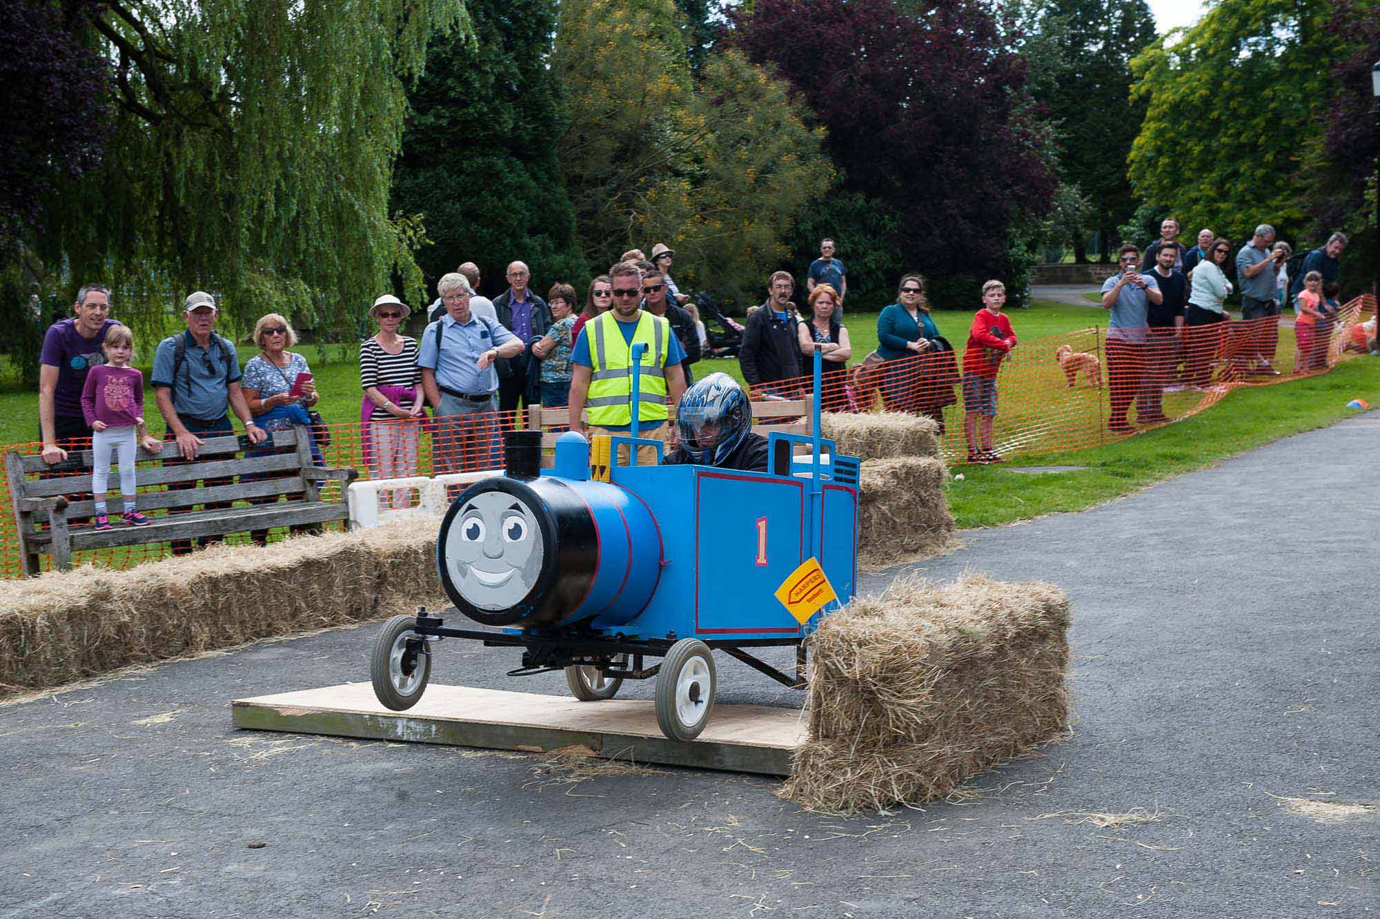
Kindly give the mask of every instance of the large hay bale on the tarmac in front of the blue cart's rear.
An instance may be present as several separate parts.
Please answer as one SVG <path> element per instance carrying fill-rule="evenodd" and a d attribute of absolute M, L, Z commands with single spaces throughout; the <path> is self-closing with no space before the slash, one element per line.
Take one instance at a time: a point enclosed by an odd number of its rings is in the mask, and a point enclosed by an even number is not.
<path fill-rule="evenodd" d="M 1070 723 L 1068 596 L 963 575 L 897 581 L 810 636 L 810 733 L 781 796 L 827 813 L 919 804 Z"/>

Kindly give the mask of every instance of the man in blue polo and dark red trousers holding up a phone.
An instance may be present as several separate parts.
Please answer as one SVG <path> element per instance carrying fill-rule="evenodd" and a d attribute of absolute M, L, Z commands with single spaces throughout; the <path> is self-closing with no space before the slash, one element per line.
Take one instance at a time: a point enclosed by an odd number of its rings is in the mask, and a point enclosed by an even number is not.
<path fill-rule="evenodd" d="M 1140 248 L 1126 243 L 1118 255 L 1121 273 L 1103 283 L 1103 309 L 1111 310 L 1107 320 L 1107 382 L 1112 404 L 1108 429 L 1130 433 L 1126 413 L 1136 403 L 1136 414 L 1145 411 L 1141 404 L 1141 378 L 1147 371 L 1147 326 L 1150 305 L 1165 302 L 1154 275 L 1136 270 Z"/>

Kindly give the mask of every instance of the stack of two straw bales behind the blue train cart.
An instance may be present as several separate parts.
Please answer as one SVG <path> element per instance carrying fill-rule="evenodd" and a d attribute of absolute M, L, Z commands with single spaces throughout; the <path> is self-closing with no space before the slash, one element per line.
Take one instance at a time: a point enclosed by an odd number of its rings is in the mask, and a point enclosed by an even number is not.
<path fill-rule="evenodd" d="M 858 498 L 858 566 L 879 570 L 940 555 L 954 545 L 954 516 L 944 498 L 948 468 L 938 425 L 897 411 L 831 414 L 820 435 L 843 455 L 862 460 Z"/>

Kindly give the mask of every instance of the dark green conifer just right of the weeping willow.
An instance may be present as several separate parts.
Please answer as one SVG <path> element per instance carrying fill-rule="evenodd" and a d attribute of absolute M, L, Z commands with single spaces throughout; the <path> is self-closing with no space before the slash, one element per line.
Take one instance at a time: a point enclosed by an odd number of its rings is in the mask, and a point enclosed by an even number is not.
<path fill-rule="evenodd" d="M 555 0 L 469 0 L 473 36 L 432 44 L 408 91 L 411 115 L 393 170 L 393 208 L 420 214 L 428 280 L 479 265 L 501 281 L 522 259 L 534 283 L 588 277 L 556 156 L 560 83 L 548 66 Z M 498 287 L 486 287 L 490 295 Z"/>

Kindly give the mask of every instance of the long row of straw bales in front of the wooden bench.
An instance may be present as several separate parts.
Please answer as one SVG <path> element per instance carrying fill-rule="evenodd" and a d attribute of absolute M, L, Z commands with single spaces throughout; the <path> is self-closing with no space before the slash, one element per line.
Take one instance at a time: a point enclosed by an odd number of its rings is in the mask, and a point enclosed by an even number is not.
<path fill-rule="evenodd" d="M 435 522 L 0 582 L 0 689 L 367 622 L 443 595 Z"/>

